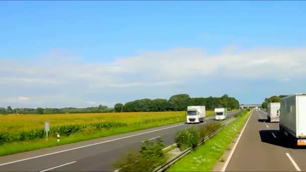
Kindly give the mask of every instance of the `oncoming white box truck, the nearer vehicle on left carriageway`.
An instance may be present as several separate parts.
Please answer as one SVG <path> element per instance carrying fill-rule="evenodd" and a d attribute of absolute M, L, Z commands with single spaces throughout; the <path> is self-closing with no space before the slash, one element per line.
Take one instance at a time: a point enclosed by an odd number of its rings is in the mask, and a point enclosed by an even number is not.
<path fill-rule="evenodd" d="M 188 106 L 187 107 L 187 123 L 204 122 L 206 115 L 205 106 Z"/>

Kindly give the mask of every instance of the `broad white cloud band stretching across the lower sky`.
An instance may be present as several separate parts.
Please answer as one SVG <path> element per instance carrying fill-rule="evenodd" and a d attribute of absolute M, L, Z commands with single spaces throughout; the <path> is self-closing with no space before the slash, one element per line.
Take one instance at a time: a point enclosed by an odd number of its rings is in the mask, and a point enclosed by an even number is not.
<path fill-rule="evenodd" d="M 289 81 L 288 78 L 306 74 L 305 54 L 306 47 L 248 50 L 227 47 L 213 56 L 206 55 L 200 48 L 178 48 L 144 52 L 108 63 L 80 63 L 80 58 L 73 58 L 72 55 L 65 58 L 66 54 L 48 55 L 42 60 L 35 59 L 35 62 L 0 59 L 2 92 L 15 94 L 13 90 L 8 90 L 14 85 L 19 88 L 19 92 L 33 94 L 31 99 L 14 95 L 15 97 L 6 97 L 0 102 L 26 102 L 26 105 L 32 103 L 37 106 L 59 103 L 64 104 L 62 106 L 86 106 L 107 100 L 96 98 L 86 101 L 88 98 L 84 97 L 89 93 L 115 93 L 116 90 L 130 92 L 139 89 L 147 93 L 152 89 L 166 92 L 166 88 L 174 89 L 179 84 L 188 88 L 190 80 L 226 77 L 273 80 L 285 78 L 283 81 Z M 38 94 L 42 90 L 47 90 L 43 96 Z"/>

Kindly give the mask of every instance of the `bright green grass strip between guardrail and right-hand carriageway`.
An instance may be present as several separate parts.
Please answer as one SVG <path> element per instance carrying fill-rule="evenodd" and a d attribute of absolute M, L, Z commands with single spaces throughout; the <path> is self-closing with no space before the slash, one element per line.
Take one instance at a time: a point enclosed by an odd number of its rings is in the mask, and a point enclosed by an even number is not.
<path fill-rule="evenodd" d="M 191 153 L 170 166 L 167 171 L 211 170 L 227 146 L 233 141 L 236 134 L 241 131 L 249 115 L 249 111 L 243 111 L 240 115 L 237 115 L 237 120 L 224 127 L 203 145 L 197 147 Z"/>

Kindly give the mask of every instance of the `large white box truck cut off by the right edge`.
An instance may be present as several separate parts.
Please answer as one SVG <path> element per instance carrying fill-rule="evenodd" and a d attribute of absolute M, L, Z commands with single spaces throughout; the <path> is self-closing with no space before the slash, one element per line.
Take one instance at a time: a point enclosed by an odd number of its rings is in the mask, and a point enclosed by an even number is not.
<path fill-rule="evenodd" d="M 297 146 L 306 145 L 306 94 L 280 99 L 279 130 Z"/>

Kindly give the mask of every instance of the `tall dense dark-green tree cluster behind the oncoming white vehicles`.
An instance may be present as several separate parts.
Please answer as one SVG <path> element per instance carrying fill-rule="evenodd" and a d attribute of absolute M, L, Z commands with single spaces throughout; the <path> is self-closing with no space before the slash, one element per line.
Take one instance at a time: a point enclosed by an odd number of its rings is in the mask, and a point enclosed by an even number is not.
<path fill-rule="evenodd" d="M 127 102 L 124 105 L 117 103 L 115 112 L 160 112 L 160 111 L 186 111 L 187 106 L 206 106 L 207 110 L 226 107 L 239 109 L 239 102 L 228 95 L 222 97 L 190 98 L 187 94 L 179 94 L 166 99 L 141 99 Z"/>

